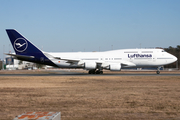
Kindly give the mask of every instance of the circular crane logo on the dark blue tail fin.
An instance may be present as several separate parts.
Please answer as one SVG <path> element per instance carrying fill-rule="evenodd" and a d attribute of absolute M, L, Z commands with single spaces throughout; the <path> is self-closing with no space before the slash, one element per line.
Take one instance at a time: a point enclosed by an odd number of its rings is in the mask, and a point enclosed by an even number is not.
<path fill-rule="evenodd" d="M 14 41 L 14 48 L 18 52 L 24 52 L 28 47 L 28 43 L 24 38 L 18 38 Z"/>

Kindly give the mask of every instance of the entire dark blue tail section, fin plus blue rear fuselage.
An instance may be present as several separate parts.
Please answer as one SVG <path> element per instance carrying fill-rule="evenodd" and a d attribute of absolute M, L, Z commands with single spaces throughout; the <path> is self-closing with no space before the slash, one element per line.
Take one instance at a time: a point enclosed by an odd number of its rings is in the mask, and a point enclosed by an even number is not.
<path fill-rule="evenodd" d="M 12 46 L 14 48 L 15 54 L 7 54 L 14 56 L 19 60 L 40 63 L 44 65 L 50 65 L 57 67 L 44 53 L 23 37 L 20 33 L 13 29 L 6 30 L 9 39 L 11 40 Z"/>

